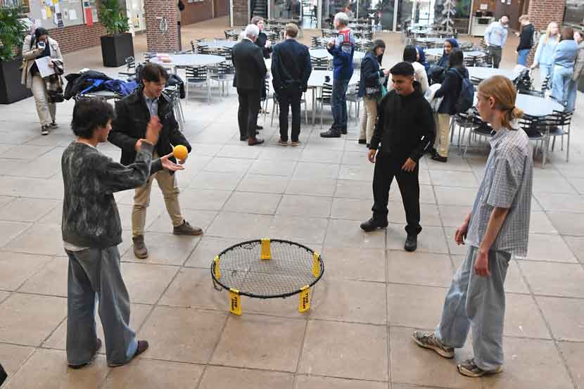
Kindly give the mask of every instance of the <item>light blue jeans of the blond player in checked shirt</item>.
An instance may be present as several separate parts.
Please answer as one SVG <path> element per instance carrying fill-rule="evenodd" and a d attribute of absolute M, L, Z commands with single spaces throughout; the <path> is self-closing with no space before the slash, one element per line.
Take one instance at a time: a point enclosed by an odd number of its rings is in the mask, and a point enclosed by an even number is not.
<path fill-rule="evenodd" d="M 448 291 L 436 338 L 461 348 L 472 327 L 474 362 L 485 371 L 503 364 L 504 281 L 511 255 L 489 251 L 490 276 L 478 276 L 474 261 L 478 249 L 470 246 Z"/>

